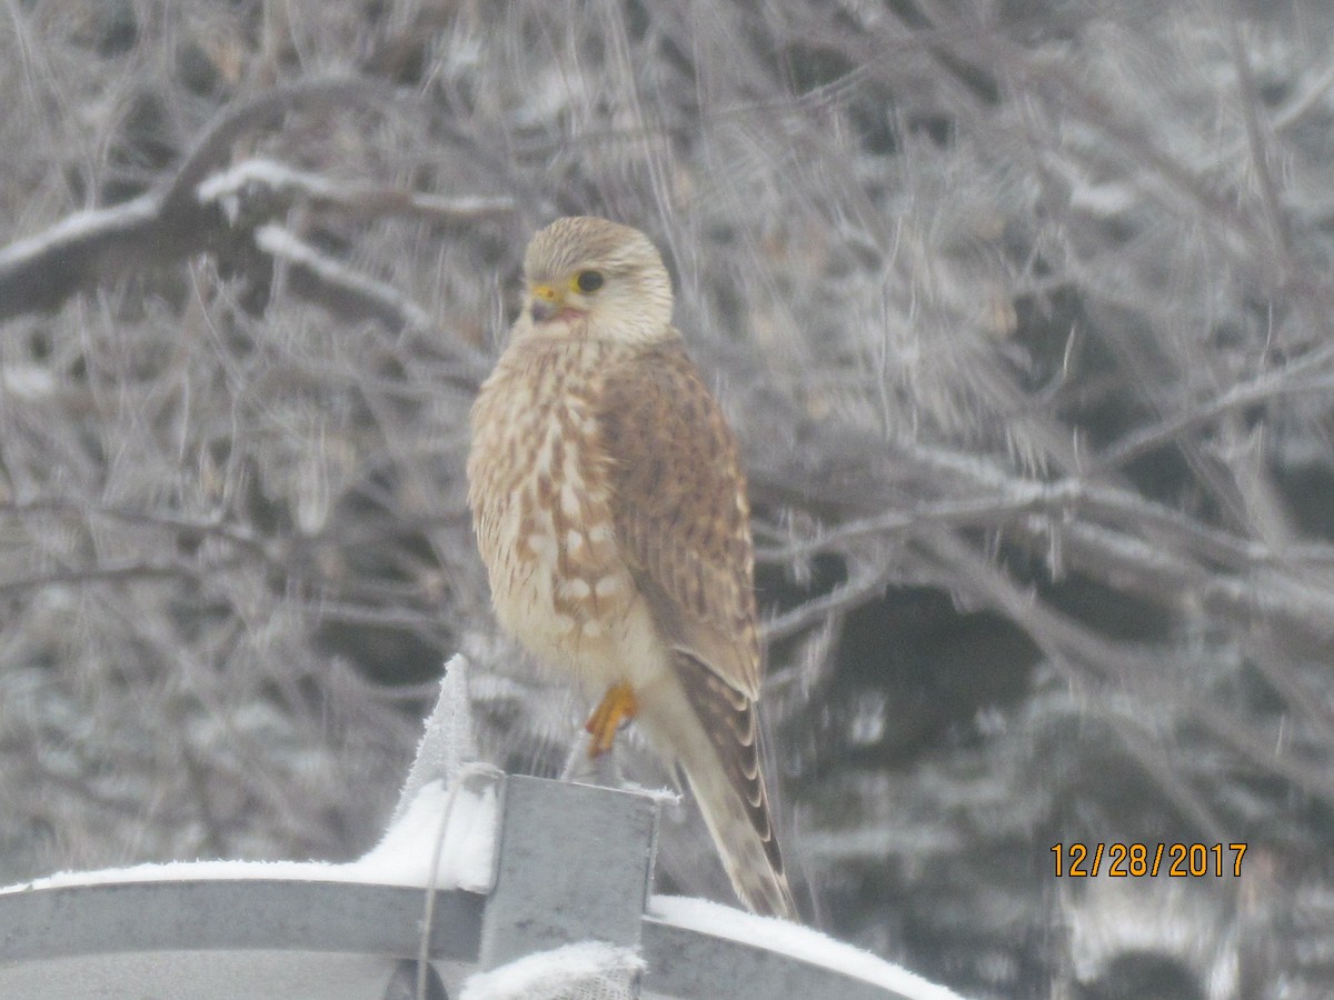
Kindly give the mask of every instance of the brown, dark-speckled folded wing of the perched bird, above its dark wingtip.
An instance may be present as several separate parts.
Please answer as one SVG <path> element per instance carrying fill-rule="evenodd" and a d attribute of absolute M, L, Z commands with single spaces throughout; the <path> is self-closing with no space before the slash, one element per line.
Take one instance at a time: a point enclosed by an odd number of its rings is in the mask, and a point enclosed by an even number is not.
<path fill-rule="evenodd" d="M 736 441 L 679 343 L 606 372 L 599 423 L 622 556 L 667 640 L 759 696 L 750 504 Z"/>

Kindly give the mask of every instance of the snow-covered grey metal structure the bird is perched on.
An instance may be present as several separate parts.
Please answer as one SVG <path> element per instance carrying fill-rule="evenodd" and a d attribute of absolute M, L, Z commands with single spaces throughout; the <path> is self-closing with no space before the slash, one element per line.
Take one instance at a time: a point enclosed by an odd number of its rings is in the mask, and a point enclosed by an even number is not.
<path fill-rule="evenodd" d="M 490 1000 L 544 983 L 552 996 L 958 1000 L 808 928 L 650 897 L 651 795 L 440 756 L 450 791 L 416 768 L 360 861 L 141 865 L 0 889 L 0 996 Z M 600 967 L 615 992 L 562 992 L 562 976 Z"/>

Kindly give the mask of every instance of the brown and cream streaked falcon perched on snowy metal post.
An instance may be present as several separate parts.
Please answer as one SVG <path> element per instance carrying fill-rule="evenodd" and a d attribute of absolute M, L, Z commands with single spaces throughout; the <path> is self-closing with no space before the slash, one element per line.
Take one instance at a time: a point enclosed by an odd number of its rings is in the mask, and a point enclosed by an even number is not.
<path fill-rule="evenodd" d="M 683 772 L 739 900 L 796 919 L 760 767 L 759 623 L 736 439 L 638 229 L 539 229 L 471 413 L 468 505 L 500 625 Z"/>

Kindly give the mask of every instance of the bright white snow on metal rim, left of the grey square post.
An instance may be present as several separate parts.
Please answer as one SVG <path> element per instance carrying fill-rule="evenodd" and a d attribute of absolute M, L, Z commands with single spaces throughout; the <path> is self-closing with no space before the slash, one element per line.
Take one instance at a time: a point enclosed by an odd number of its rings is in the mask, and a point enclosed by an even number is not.
<path fill-rule="evenodd" d="M 479 787 L 480 785 L 480 787 Z M 442 823 L 448 821 L 439 851 L 436 879 L 435 847 Z M 28 892 L 72 885 L 104 885 L 141 881 L 195 881 L 285 879 L 339 881 L 368 885 L 402 885 L 484 892 L 491 885 L 499 783 L 460 780 L 452 795 L 443 781 L 424 785 L 403 817 L 367 855 L 347 864 L 327 861 L 169 861 L 107 868 L 96 872 L 57 872 L 33 881 L 0 888 L 0 893 Z"/>

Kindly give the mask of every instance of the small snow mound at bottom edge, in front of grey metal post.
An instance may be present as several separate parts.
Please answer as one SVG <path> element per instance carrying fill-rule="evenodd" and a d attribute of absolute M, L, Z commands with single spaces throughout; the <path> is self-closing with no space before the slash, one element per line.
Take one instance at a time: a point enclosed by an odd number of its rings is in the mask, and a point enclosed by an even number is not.
<path fill-rule="evenodd" d="M 491 972 L 471 976 L 459 1000 L 628 996 L 628 983 L 643 969 L 643 959 L 628 948 L 582 941 L 527 955 Z"/>

